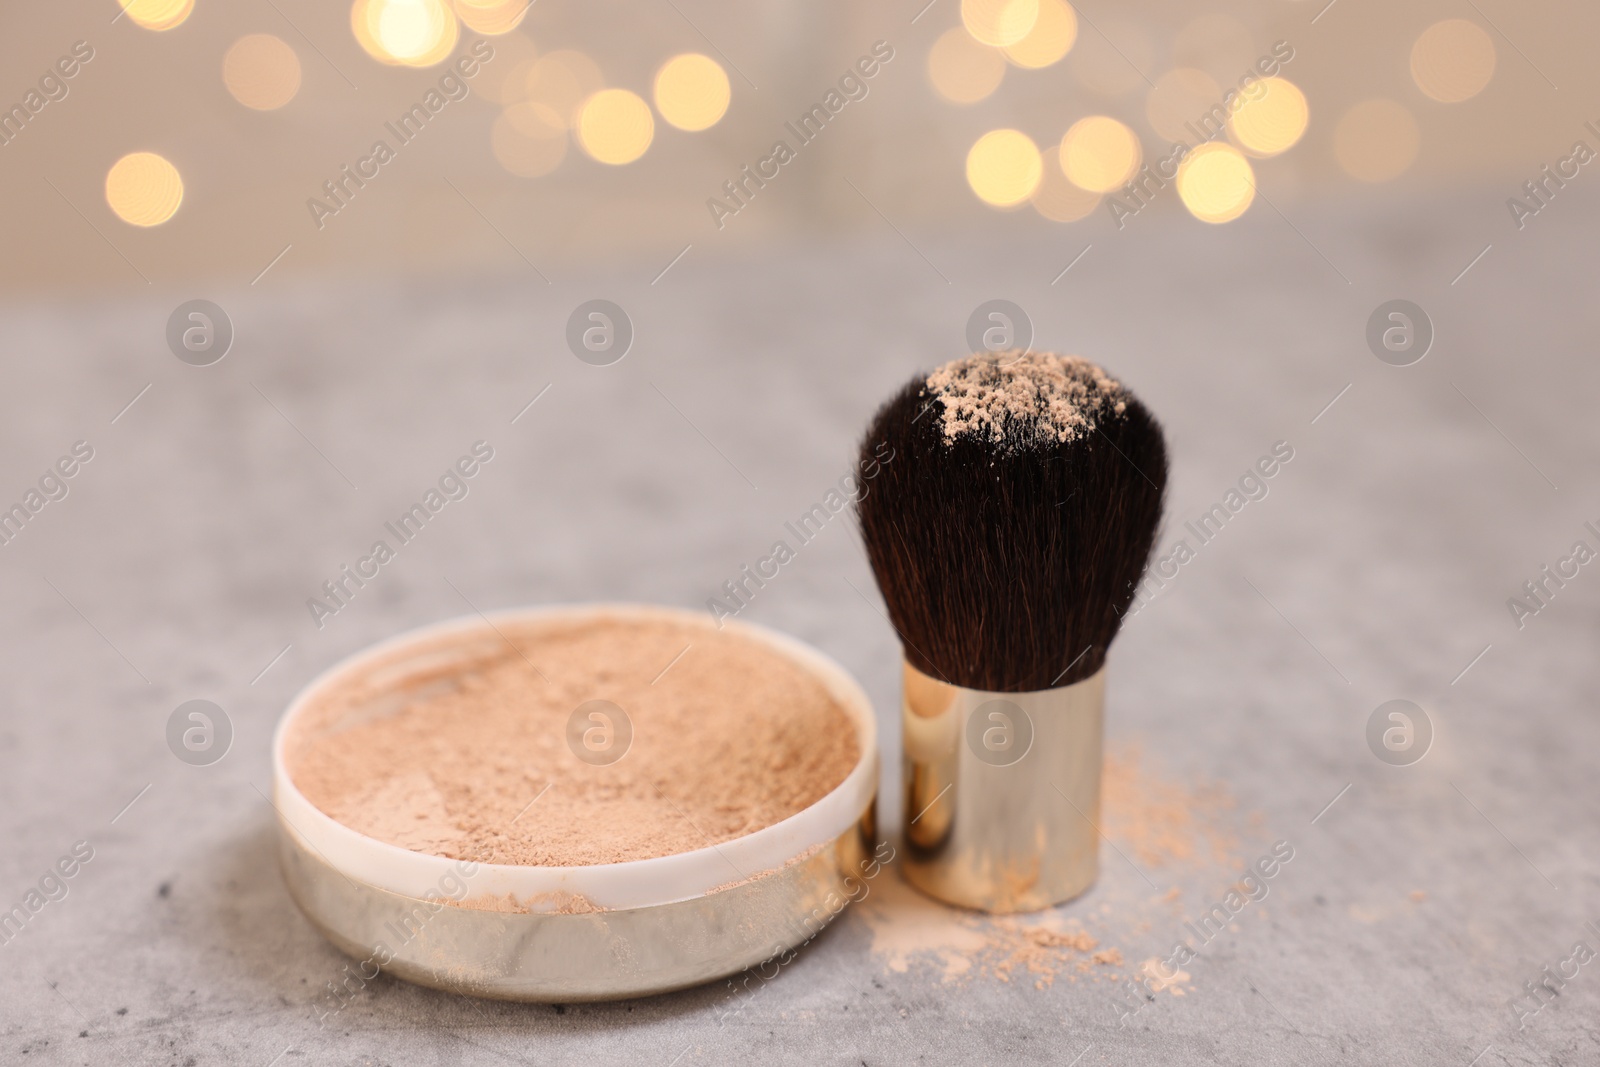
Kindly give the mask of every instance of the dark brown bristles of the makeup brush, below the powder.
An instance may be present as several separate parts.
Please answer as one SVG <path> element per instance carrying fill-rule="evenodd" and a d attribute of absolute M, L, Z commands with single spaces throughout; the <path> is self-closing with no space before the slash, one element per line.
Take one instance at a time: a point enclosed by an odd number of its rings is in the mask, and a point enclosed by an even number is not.
<path fill-rule="evenodd" d="M 946 440 L 918 376 L 861 445 L 893 461 L 856 504 L 906 659 L 970 689 L 1030 693 L 1106 662 L 1162 520 L 1166 443 L 1131 394 L 1075 440 Z"/>

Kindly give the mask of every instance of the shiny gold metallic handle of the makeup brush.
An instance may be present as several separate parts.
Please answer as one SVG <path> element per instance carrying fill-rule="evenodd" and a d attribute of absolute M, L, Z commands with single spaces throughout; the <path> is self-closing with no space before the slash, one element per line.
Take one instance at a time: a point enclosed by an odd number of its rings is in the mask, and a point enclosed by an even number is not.
<path fill-rule="evenodd" d="M 904 672 L 906 878 L 982 912 L 1038 910 L 1094 885 L 1106 669 L 1037 693 Z"/>

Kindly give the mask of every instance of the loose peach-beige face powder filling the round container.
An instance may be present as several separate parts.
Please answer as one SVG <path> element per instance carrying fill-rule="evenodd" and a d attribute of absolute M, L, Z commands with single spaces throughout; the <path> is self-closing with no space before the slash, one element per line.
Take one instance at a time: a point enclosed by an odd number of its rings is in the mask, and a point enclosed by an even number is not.
<path fill-rule="evenodd" d="M 592 699 L 632 721 L 605 766 L 568 747 L 568 718 Z M 602 721 L 584 728 L 605 739 Z M 829 689 L 770 646 L 602 617 L 400 649 L 307 707 L 286 757 L 317 808 L 390 845 L 576 867 L 779 822 L 845 781 L 859 747 Z"/>

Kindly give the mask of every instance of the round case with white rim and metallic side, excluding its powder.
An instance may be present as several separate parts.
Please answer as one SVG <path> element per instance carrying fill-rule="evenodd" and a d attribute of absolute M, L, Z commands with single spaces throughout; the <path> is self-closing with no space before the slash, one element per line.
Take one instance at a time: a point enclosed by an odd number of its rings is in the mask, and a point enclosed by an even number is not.
<path fill-rule="evenodd" d="M 755 641 L 819 683 L 854 729 L 858 758 L 802 811 L 704 848 L 592 865 L 496 864 L 400 848 L 314 805 L 291 776 L 294 739 L 330 693 L 371 694 L 339 729 L 394 713 L 395 694 L 451 669 L 453 648 L 502 630 L 594 622 L 670 622 L 710 640 Z M 387 696 L 386 696 L 387 694 Z M 750 715 L 762 709 L 752 707 Z M 563 753 L 565 755 L 565 753 Z M 274 806 L 288 888 L 306 917 L 358 963 L 454 993 L 525 1001 L 643 997 L 781 965 L 859 894 L 886 859 L 875 840 L 877 725 L 861 686 L 832 659 L 770 629 L 642 605 L 528 608 L 402 633 L 322 673 L 294 701 L 272 745 Z M 534 808 L 526 817 L 536 817 Z M 512 909 L 506 901 L 514 902 Z M 347 982 L 346 985 L 349 985 Z"/>

